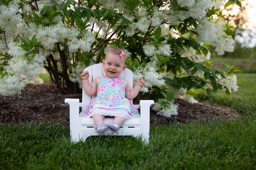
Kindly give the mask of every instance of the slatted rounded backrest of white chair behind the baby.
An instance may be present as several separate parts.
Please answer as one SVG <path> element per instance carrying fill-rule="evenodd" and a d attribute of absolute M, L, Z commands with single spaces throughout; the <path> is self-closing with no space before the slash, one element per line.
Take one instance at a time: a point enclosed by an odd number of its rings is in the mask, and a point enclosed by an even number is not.
<path fill-rule="evenodd" d="M 89 75 L 90 75 L 89 76 L 89 82 L 90 82 L 90 84 L 92 83 L 92 80 L 94 79 L 94 77 L 105 75 L 102 63 L 94 64 L 92 66 L 89 66 L 89 67 L 85 68 L 83 71 L 84 72 L 85 71 L 89 72 Z M 130 83 L 131 88 L 133 88 L 133 72 L 131 70 L 126 68 L 120 74 L 120 77 L 123 78 L 123 79 L 126 79 Z M 89 104 L 96 97 L 96 95 L 90 97 L 85 93 L 84 90 L 82 90 L 82 91 L 83 91 L 83 94 L 82 94 L 82 109 L 84 109 L 87 106 L 87 104 Z M 130 101 L 132 102 L 132 100 L 130 100 Z"/>

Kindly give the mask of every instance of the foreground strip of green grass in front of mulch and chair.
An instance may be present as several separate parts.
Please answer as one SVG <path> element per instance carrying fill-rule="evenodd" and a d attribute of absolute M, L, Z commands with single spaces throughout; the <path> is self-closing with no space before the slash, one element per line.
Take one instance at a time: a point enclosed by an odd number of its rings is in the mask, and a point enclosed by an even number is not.
<path fill-rule="evenodd" d="M 256 122 L 151 127 L 139 138 L 99 136 L 72 144 L 55 123 L 1 125 L 1 169 L 254 169 Z"/>

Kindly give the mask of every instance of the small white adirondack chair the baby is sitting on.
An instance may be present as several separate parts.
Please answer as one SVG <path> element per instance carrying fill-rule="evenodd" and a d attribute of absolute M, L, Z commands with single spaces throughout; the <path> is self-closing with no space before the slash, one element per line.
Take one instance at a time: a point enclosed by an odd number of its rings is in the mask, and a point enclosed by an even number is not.
<path fill-rule="evenodd" d="M 84 71 L 89 72 L 89 82 L 91 84 L 93 77 L 104 75 L 104 69 L 102 63 L 94 64 L 84 69 Z M 125 69 L 121 75 L 121 78 L 129 81 L 131 87 L 133 87 L 133 73 L 129 69 Z M 89 136 L 97 135 L 123 135 L 123 136 L 142 136 L 142 140 L 146 143 L 149 140 L 149 123 L 150 123 L 150 106 L 154 104 L 153 100 L 140 100 L 140 104 L 135 105 L 138 109 L 140 107 L 140 118 L 127 119 L 118 130 L 117 133 L 107 130 L 103 133 L 97 134 L 95 124 L 91 117 L 79 117 L 79 107 L 82 110 L 96 97 L 89 97 L 83 90 L 82 92 L 82 102 L 79 99 L 65 99 L 65 103 L 69 104 L 70 112 L 70 136 L 73 142 L 78 142 L 80 140 L 85 141 Z M 131 100 L 132 102 L 132 100 Z M 105 118 L 104 124 L 112 122 L 113 118 Z"/>

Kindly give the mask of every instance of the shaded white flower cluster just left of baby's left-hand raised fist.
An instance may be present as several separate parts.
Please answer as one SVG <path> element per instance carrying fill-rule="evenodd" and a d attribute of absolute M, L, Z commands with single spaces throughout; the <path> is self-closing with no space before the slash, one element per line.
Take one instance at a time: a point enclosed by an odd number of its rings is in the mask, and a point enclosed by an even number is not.
<path fill-rule="evenodd" d="M 79 87 L 82 88 L 83 83 L 82 79 L 80 77 L 80 74 L 83 72 L 83 70 L 86 68 L 83 62 L 78 62 L 76 67 L 72 68 L 72 72 L 70 74 L 69 80 L 72 82 L 77 82 L 79 84 Z"/>

